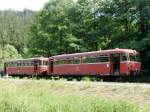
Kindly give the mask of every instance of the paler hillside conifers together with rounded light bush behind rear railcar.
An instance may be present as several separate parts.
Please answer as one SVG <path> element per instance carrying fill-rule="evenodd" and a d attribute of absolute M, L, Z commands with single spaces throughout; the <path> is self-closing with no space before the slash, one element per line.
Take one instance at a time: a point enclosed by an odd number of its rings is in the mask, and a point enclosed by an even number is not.
<path fill-rule="evenodd" d="M 27 56 L 27 41 L 33 12 L 0 11 L 0 67 L 4 60 Z"/>

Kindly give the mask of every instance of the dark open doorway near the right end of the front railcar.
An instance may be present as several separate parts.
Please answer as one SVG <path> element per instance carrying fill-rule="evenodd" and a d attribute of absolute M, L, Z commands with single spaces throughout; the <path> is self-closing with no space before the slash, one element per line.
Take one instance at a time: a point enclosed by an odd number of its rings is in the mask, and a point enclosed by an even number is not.
<path fill-rule="evenodd" d="M 112 73 L 114 75 L 120 74 L 120 53 L 111 54 L 111 62 L 112 62 Z"/>

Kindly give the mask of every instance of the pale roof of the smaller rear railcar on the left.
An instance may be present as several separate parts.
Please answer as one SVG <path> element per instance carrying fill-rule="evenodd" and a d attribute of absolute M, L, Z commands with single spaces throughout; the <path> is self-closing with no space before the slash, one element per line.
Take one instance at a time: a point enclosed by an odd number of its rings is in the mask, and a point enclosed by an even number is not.
<path fill-rule="evenodd" d="M 28 59 L 10 59 L 6 62 L 14 62 L 14 61 L 31 61 L 31 60 L 48 60 L 46 57 L 36 57 L 36 58 L 28 58 Z"/>

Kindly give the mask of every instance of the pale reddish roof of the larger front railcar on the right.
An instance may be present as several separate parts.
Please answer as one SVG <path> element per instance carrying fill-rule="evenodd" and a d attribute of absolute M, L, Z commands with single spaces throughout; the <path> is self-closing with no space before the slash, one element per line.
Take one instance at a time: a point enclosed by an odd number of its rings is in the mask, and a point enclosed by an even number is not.
<path fill-rule="evenodd" d="M 96 55 L 108 55 L 113 53 L 131 53 L 131 54 L 138 54 L 137 51 L 132 49 L 110 49 L 110 50 L 100 50 L 100 51 L 91 51 L 91 52 L 83 52 L 83 53 L 74 53 L 74 54 L 62 54 L 57 56 L 52 56 L 51 58 L 57 59 L 67 59 L 67 58 L 74 58 L 74 57 L 82 57 L 82 56 L 96 56 Z"/>

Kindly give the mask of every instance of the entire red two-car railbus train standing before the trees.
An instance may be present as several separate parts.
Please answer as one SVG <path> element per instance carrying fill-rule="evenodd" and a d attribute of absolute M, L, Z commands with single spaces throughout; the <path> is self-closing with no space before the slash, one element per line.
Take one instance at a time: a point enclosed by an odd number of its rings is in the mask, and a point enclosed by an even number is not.
<path fill-rule="evenodd" d="M 18 59 L 5 62 L 9 75 L 132 75 L 139 74 L 138 52 L 131 49 L 111 49 L 48 58 Z M 45 64 L 44 64 L 45 63 Z"/>

